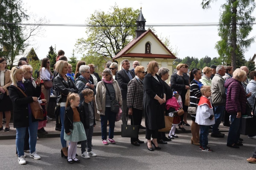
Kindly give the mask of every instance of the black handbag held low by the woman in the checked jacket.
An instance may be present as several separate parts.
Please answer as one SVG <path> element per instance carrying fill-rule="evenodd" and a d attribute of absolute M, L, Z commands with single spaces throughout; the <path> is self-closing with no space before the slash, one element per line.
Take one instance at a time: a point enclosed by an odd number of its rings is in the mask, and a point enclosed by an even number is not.
<path fill-rule="evenodd" d="M 133 121 L 132 115 L 131 115 L 131 118 Z M 126 120 L 126 124 L 121 125 L 121 136 L 127 137 L 127 138 L 137 138 L 138 133 L 139 133 L 139 125 L 130 125 L 127 123 L 128 123 L 128 118 Z"/>

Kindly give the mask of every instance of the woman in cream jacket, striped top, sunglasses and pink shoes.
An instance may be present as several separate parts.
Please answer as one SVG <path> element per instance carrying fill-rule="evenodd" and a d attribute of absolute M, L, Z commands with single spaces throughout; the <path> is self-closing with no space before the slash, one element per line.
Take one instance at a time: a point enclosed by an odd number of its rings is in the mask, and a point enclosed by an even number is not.
<path fill-rule="evenodd" d="M 108 90 L 106 90 L 108 89 Z M 110 69 L 103 70 L 102 81 L 100 81 L 96 87 L 96 106 L 98 114 L 100 114 L 101 119 L 101 138 L 102 144 L 108 145 L 110 143 L 115 143 L 114 128 L 116 114 L 111 111 L 111 102 L 117 100 L 120 107 L 122 106 L 122 95 L 120 87 L 116 80 L 113 79 L 113 75 Z M 109 138 L 107 139 L 107 122 L 109 121 Z"/>

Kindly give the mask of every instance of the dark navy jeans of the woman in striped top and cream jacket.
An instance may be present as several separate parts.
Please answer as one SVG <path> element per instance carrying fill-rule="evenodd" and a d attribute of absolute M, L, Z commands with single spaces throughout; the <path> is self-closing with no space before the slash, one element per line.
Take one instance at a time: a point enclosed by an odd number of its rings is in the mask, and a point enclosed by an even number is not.
<path fill-rule="evenodd" d="M 110 107 L 105 107 L 105 115 L 100 115 L 100 122 L 101 122 L 101 139 L 106 140 L 107 132 L 106 127 L 109 121 L 109 138 L 112 139 L 114 137 L 114 128 L 115 128 L 115 120 L 116 120 L 116 113 L 111 112 Z"/>

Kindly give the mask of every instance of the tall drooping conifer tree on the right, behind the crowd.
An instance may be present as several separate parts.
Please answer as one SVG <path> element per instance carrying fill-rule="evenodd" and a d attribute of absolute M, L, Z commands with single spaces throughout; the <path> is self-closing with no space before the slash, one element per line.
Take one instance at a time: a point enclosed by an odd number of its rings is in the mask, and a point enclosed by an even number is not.
<path fill-rule="evenodd" d="M 210 8 L 210 3 L 216 0 L 202 0 L 202 8 Z M 255 8 L 254 0 L 226 0 L 222 6 L 219 18 L 218 35 L 221 37 L 215 48 L 226 62 L 231 61 L 231 66 L 236 69 L 238 46 L 244 53 L 252 43 L 254 36 L 248 38 L 253 29 L 255 17 L 251 16 Z M 248 39 L 247 39 L 248 38 Z"/>

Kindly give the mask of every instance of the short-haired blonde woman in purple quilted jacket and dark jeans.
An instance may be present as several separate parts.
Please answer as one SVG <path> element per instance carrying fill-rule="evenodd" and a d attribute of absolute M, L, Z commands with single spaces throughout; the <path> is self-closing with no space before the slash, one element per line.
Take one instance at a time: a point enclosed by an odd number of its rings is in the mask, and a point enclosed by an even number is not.
<path fill-rule="evenodd" d="M 246 109 L 246 94 L 241 83 L 245 79 L 246 72 L 238 68 L 233 72 L 233 77 L 225 83 L 225 88 L 227 88 L 226 110 L 231 116 L 227 146 L 231 148 L 239 148 L 243 145 L 238 140 L 241 115 L 245 113 Z"/>

